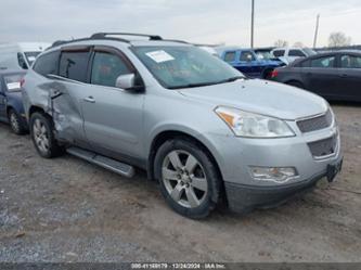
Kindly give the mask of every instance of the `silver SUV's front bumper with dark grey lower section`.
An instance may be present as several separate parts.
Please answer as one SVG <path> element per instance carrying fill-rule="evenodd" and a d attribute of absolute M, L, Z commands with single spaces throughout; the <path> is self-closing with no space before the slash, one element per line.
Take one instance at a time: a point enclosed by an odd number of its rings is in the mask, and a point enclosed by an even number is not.
<path fill-rule="evenodd" d="M 212 137 L 214 144 L 218 145 L 216 159 L 232 210 L 245 213 L 278 206 L 296 193 L 312 189 L 321 178 L 331 178 L 333 165 L 341 164 L 343 152 L 335 125 L 309 133 L 300 133 L 295 126 L 293 130 L 297 131 L 296 137 L 274 140 Z M 331 137 L 337 140 L 334 153 L 323 158 L 313 156 L 309 143 Z M 294 167 L 298 176 L 284 183 L 256 180 L 250 166 Z"/>

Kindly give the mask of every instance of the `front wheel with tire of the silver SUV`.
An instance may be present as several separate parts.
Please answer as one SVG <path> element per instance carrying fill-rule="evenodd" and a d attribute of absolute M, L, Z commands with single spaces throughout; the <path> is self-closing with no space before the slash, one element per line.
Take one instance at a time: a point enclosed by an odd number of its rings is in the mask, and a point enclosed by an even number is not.
<path fill-rule="evenodd" d="M 184 139 L 166 141 L 156 153 L 154 171 L 163 196 L 178 214 L 201 219 L 217 206 L 221 178 L 197 143 Z"/>

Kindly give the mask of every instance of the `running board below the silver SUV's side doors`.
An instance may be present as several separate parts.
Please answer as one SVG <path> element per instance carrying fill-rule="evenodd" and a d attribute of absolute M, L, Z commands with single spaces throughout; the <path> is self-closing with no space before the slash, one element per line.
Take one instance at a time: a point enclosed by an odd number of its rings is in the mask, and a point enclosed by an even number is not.
<path fill-rule="evenodd" d="M 134 168 L 128 164 L 78 147 L 68 147 L 66 152 L 121 176 L 129 178 L 134 176 Z"/>

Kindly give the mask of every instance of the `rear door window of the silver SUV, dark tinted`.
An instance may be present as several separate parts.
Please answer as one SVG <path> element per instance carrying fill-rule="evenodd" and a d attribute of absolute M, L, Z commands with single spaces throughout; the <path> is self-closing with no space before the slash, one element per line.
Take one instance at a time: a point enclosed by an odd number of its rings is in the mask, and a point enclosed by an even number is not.
<path fill-rule="evenodd" d="M 78 81 L 87 80 L 89 52 L 62 52 L 59 75 Z"/>

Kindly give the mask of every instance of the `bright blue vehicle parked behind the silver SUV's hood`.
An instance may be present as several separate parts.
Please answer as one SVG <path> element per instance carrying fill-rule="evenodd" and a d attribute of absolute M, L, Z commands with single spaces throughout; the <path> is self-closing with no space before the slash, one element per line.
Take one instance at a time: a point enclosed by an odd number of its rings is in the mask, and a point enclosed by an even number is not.
<path fill-rule="evenodd" d="M 258 57 L 250 49 L 228 49 L 221 59 L 250 78 L 269 78 L 271 72 L 283 66 L 281 61 Z"/>

